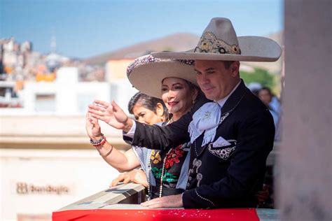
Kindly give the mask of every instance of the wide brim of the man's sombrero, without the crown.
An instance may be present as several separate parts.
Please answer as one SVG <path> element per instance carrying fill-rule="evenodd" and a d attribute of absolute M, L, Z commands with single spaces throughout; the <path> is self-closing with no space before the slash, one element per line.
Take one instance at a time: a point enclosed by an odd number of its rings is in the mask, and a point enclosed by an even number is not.
<path fill-rule="evenodd" d="M 279 59 L 282 49 L 277 42 L 261 36 L 240 36 L 241 55 L 217 54 L 209 52 L 154 52 L 151 55 L 162 59 L 194 59 L 194 60 L 222 60 L 240 62 L 275 62 Z"/>

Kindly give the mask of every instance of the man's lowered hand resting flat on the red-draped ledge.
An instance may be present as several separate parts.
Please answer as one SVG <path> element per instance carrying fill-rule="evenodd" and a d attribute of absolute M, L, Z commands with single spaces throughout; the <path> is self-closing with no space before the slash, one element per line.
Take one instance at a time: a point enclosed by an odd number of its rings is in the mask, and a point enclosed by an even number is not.
<path fill-rule="evenodd" d="M 178 194 L 151 199 L 150 201 L 141 203 L 141 206 L 146 206 L 148 208 L 176 208 L 183 207 L 184 204 L 182 202 L 181 194 Z"/>

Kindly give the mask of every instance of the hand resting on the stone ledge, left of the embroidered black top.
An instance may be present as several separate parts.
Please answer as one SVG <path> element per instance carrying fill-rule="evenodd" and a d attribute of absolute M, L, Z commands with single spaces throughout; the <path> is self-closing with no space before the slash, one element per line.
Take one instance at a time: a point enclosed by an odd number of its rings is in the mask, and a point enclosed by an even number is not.
<path fill-rule="evenodd" d="M 129 172 L 120 173 L 120 175 L 112 180 L 111 185 L 109 187 L 113 187 L 118 185 L 119 182 L 123 183 L 139 183 L 144 185 L 144 187 L 148 187 L 148 181 L 146 180 L 146 174 L 141 169 L 134 169 Z"/>

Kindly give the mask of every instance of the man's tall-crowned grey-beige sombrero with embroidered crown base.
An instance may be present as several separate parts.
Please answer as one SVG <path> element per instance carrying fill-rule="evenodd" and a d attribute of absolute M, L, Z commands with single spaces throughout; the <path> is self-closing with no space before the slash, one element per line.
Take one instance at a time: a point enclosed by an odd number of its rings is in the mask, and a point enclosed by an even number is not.
<path fill-rule="evenodd" d="M 230 20 L 225 17 L 214 17 L 193 50 L 155 52 L 151 55 L 164 59 L 275 62 L 281 52 L 278 43 L 272 39 L 260 36 L 237 37 Z"/>

